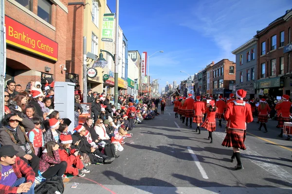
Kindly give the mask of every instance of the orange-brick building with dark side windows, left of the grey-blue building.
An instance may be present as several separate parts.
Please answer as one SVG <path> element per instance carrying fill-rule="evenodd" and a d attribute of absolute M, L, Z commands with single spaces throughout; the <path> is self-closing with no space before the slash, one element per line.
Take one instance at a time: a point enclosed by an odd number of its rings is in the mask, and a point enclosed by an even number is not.
<path fill-rule="evenodd" d="M 231 87 L 235 84 L 235 72 L 236 64 L 228 59 L 222 59 L 212 66 L 210 84 L 213 84 L 213 97 L 217 98 L 219 95 L 229 97 L 233 92 Z"/>

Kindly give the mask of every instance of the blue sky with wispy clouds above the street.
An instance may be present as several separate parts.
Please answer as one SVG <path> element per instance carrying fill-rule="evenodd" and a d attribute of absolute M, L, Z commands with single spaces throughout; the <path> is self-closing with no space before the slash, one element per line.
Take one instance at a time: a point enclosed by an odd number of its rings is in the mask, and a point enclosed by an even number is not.
<path fill-rule="evenodd" d="M 108 0 L 115 13 L 115 0 Z M 120 0 L 119 25 L 128 50 L 146 51 L 149 74 L 177 83 L 206 65 L 227 58 L 286 10 L 292 0 Z"/>

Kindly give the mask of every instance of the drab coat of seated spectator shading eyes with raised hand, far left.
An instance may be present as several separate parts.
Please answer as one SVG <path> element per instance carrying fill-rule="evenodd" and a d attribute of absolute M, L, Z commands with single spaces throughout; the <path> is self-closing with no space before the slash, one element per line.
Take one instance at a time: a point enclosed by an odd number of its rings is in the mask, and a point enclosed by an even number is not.
<path fill-rule="evenodd" d="M 27 132 L 35 128 L 35 124 L 31 120 L 29 120 L 28 118 L 22 118 L 22 121 L 19 124 L 21 124 Z M 25 144 L 26 143 L 24 134 L 22 133 L 22 131 L 20 130 L 19 127 L 16 128 L 16 131 L 13 130 L 13 129 L 7 128 L 5 126 L 3 126 L 0 129 L 0 144 L 2 146 L 4 146 L 4 145 L 13 146 L 14 149 L 16 151 L 18 151 L 17 156 L 18 157 L 23 157 L 26 153 L 24 152 L 24 150 L 20 146 L 16 145 L 12 141 L 10 135 L 5 130 L 10 130 L 15 136 L 17 136 L 19 141 L 21 142 L 21 144 Z"/>

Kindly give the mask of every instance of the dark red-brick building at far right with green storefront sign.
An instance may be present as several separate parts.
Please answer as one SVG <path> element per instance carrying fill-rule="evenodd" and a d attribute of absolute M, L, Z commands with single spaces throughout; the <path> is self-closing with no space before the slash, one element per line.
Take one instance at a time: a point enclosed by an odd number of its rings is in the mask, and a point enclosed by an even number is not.
<path fill-rule="evenodd" d="M 257 85 L 259 94 L 276 97 L 292 94 L 292 10 L 257 31 Z"/>

